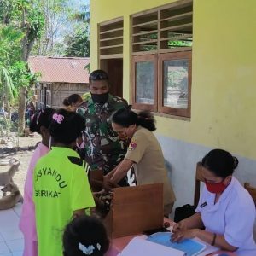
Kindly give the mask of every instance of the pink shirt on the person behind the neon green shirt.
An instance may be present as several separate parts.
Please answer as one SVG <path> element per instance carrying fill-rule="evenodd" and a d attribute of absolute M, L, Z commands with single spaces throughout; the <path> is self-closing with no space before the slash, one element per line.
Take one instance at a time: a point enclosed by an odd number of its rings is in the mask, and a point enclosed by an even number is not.
<path fill-rule="evenodd" d="M 49 148 L 44 146 L 43 143 L 39 143 L 34 154 L 32 154 L 32 159 L 30 160 L 30 164 L 26 174 L 26 182 L 24 187 L 24 202 L 20 215 L 20 230 L 22 231 L 24 236 L 26 236 L 28 239 L 32 239 L 33 241 L 38 241 L 35 220 L 35 206 L 32 200 L 33 172 L 38 159 L 44 156 L 44 154 L 47 154 L 48 152 Z"/>

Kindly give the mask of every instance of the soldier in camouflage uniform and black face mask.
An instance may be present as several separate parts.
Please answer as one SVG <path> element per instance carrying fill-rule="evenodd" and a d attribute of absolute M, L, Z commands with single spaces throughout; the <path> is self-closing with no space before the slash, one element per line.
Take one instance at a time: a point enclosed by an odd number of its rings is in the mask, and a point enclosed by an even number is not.
<path fill-rule="evenodd" d="M 125 157 L 127 145 L 119 140 L 111 126 L 111 115 L 127 102 L 109 94 L 108 74 L 95 70 L 89 77 L 90 96 L 77 109 L 85 120 L 84 143 L 79 154 L 90 165 L 90 170 L 102 170 L 104 175 L 112 171 Z M 126 177 L 119 185 L 127 185 Z"/>

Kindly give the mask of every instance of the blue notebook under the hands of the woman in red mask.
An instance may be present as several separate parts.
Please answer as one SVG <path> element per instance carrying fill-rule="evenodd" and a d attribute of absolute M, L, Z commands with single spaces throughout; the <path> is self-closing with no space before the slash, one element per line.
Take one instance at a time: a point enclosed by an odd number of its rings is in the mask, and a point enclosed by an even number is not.
<path fill-rule="evenodd" d="M 153 241 L 155 243 L 158 243 L 160 245 L 166 246 L 166 247 L 172 247 L 174 249 L 177 249 L 179 251 L 183 251 L 186 253 L 186 256 L 195 256 L 198 253 L 201 253 L 207 246 L 191 239 L 185 239 L 182 242 L 172 242 L 170 241 L 171 234 L 169 232 L 158 232 L 154 233 L 151 236 L 148 236 L 148 241 Z"/>

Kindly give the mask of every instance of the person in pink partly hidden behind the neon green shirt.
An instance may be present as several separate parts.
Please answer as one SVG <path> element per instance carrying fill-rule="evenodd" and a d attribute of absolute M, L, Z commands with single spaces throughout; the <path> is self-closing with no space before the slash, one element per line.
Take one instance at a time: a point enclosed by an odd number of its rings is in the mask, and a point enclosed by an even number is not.
<path fill-rule="evenodd" d="M 38 132 L 42 141 L 38 144 L 26 174 L 26 182 L 24 188 L 24 202 L 20 216 L 20 230 L 24 235 L 24 256 L 38 256 L 38 238 L 35 224 L 35 207 L 32 201 L 32 174 L 34 166 L 39 158 L 49 152 L 49 124 L 52 120 L 54 109 L 45 108 L 38 110 L 33 116 L 30 124 L 30 131 Z"/>

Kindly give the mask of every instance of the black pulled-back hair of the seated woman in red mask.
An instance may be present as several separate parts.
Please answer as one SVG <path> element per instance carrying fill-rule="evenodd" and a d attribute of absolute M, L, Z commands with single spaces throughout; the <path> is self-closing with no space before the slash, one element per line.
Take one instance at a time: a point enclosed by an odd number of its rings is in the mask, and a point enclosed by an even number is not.
<path fill-rule="evenodd" d="M 201 160 L 201 165 L 217 177 L 228 177 L 238 166 L 238 159 L 223 149 L 212 149 Z"/>

